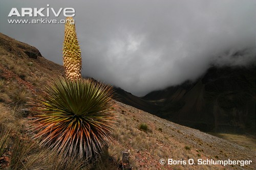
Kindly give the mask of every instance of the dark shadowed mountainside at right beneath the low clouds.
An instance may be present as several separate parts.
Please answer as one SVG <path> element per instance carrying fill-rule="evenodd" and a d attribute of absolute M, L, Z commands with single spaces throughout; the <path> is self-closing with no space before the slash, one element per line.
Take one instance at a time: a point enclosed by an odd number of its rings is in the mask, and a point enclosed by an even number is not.
<path fill-rule="evenodd" d="M 195 83 L 151 92 L 156 115 L 204 131 L 255 130 L 255 67 L 211 67 Z"/>

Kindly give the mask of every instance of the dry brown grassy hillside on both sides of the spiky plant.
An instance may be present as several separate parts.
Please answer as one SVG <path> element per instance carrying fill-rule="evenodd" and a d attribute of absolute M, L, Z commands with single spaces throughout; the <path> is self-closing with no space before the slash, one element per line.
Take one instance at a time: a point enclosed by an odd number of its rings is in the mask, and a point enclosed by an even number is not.
<path fill-rule="evenodd" d="M 24 110 L 29 100 L 27 97 L 41 91 L 55 76 L 63 76 L 62 66 L 41 57 L 35 47 L 0 34 L 0 132 L 5 127 L 11 135 L 10 144 L 0 155 L 0 168 L 121 169 L 121 152 L 127 150 L 133 169 L 256 169 L 256 153 L 250 149 L 114 100 L 112 109 L 117 123 L 102 158 L 90 167 L 77 168 L 81 164 L 77 160 L 72 166 L 69 163 L 59 165 L 56 155 L 40 149 L 31 140 L 27 131 L 27 117 L 31 113 Z M 134 98 L 129 99 L 134 103 Z M 19 133 L 19 140 L 15 140 Z M 15 144 L 16 141 L 22 143 Z M 160 164 L 160 159 L 166 163 Z M 168 165 L 167 159 L 182 160 L 183 163 Z M 195 164 L 189 165 L 189 159 Z M 244 166 L 199 165 L 200 159 L 252 162 Z"/>

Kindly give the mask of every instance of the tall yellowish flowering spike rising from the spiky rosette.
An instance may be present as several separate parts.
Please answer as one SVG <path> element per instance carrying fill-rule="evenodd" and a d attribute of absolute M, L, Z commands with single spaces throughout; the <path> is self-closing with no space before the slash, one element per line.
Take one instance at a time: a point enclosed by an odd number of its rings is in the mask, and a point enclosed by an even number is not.
<path fill-rule="evenodd" d="M 81 50 L 76 36 L 75 23 L 70 22 L 73 18 L 67 17 L 66 20 L 63 42 L 63 66 L 65 67 L 66 78 L 74 81 L 81 79 Z"/>

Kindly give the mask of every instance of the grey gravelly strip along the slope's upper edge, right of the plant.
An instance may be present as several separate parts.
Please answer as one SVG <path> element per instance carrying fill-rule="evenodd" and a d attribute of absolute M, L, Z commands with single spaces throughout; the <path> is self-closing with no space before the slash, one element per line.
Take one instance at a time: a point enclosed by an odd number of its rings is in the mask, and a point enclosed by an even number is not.
<path fill-rule="evenodd" d="M 129 114 L 125 116 L 133 116 L 140 120 L 140 122 L 147 122 L 147 124 L 155 128 L 161 127 L 162 133 L 172 138 L 174 142 L 182 143 L 191 147 L 191 150 L 203 151 L 205 159 L 214 160 L 251 160 L 250 165 L 226 165 L 217 167 L 216 169 L 256 169 L 256 152 L 242 147 L 236 143 L 212 136 L 210 134 L 201 132 L 196 129 L 181 126 L 166 119 L 162 119 L 150 113 L 136 109 L 132 106 L 116 102 L 120 109 L 125 109 Z M 154 128 L 153 128 L 154 129 Z M 155 132 L 154 133 L 158 133 Z M 164 146 L 168 147 L 168 146 Z M 193 168 L 194 169 L 194 168 Z M 204 169 L 204 168 L 202 168 Z"/>

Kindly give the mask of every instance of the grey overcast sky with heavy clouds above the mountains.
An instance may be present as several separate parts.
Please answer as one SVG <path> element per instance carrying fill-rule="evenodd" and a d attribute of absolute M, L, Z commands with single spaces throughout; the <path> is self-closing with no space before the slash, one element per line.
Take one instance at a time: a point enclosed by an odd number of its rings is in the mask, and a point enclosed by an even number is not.
<path fill-rule="evenodd" d="M 63 24 L 7 20 L 13 18 L 8 17 L 11 8 L 47 4 L 55 11 L 75 9 L 83 76 L 135 95 L 194 80 L 210 64 L 255 63 L 254 0 L 1 1 L 0 32 L 37 47 L 45 58 L 62 65 Z M 63 18 L 61 13 L 48 19 Z M 245 55 L 232 57 L 245 48 Z"/>

